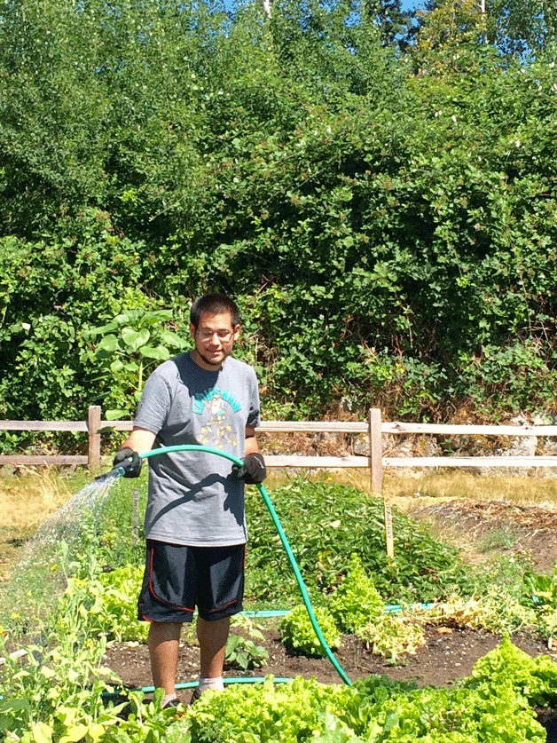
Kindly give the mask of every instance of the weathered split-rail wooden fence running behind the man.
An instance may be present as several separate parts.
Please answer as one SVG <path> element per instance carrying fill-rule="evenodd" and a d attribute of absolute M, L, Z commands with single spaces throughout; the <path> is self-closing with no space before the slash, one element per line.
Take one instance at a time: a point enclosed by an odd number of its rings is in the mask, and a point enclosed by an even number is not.
<path fill-rule="evenodd" d="M 85 455 L 32 455 L 3 454 L 0 465 L 12 464 L 40 466 L 44 464 L 82 464 L 97 472 L 101 465 L 100 443 L 103 431 L 131 431 L 131 421 L 103 421 L 101 408 L 91 406 L 87 421 L 0 421 L 0 431 L 78 431 L 87 433 L 89 450 Z M 265 455 L 268 467 L 341 469 L 361 468 L 370 470 L 373 493 L 383 492 L 383 472 L 388 467 L 557 467 L 557 456 L 383 456 L 382 437 L 391 435 L 459 435 L 459 436 L 536 436 L 557 437 L 557 426 L 498 426 L 498 425 L 445 425 L 437 423 L 388 423 L 381 420 L 381 411 L 373 407 L 366 421 L 266 421 L 257 431 L 273 433 L 364 433 L 369 437 L 367 456 L 288 456 Z M 385 511 L 385 537 L 389 556 L 394 554 L 391 507 L 383 494 Z"/>

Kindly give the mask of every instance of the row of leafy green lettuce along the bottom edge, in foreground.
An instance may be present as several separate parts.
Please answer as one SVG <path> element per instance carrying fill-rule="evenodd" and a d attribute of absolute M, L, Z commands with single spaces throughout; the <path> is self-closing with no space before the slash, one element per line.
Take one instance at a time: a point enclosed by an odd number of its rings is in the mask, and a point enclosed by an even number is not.
<path fill-rule="evenodd" d="M 173 726 L 172 740 L 179 739 L 180 724 Z M 323 686 L 297 678 L 293 684 L 275 688 L 270 677 L 263 686 L 232 687 L 226 694 L 200 700 L 185 727 L 192 743 L 239 739 L 294 743 L 310 738 L 323 743 L 541 743 L 545 739 L 532 711 L 509 687 L 498 694 L 468 688 L 418 690 L 380 676 L 370 676 L 352 687 Z M 207 736 L 208 730 L 213 734 Z"/>

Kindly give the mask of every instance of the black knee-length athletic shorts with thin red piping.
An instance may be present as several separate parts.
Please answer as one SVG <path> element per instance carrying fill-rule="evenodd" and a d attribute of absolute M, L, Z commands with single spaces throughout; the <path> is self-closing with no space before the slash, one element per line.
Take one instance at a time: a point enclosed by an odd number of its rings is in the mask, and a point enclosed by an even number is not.
<path fill-rule="evenodd" d="M 245 544 L 186 547 L 147 540 L 137 616 L 143 621 L 216 621 L 242 611 Z"/>

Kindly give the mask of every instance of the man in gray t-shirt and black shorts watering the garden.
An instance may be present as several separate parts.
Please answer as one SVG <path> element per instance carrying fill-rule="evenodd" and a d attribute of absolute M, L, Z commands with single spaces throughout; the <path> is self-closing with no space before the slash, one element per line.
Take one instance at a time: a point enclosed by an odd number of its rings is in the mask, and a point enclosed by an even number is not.
<path fill-rule="evenodd" d="M 192 306 L 194 342 L 164 362 L 145 383 L 133 431 L 114 457 L 131 457 L 127 477 L 138 477 L 139 453 L 180 444 L 222 449 L 243 466 L 216 454 L 175 452 L 150 458 L 145 513 L 146 560 L 138 614 L 151 622 L 149 654 L 162 705 L 176 706 L 178 643 L 198 607 L 200 684 L 222 691 L 230 617 L 242 611 L 247 527 L 244 482 L 265 478 L 255 439 L 259 391 L 255 371 L 231 357 L 240 332 L 239 310 L 222 294 Z"/>

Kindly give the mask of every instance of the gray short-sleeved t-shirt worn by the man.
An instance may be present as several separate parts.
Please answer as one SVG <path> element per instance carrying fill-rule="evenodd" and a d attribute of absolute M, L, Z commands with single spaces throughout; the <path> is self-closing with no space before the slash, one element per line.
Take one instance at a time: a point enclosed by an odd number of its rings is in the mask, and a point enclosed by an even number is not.
<path fill-rule="evenodd" d="M 242 458 L 246 426 L 259 425 L 255 371 L 231 356 L 220 371 L 206 371 L 182 353 L 149 377 L 134 423 L 156 433 L 155 446 L 202 444 Z M 247 541 L 244 485 L 231 467 L 198 451 L 149 457 L 147 539 L 199 547 Z"/>

